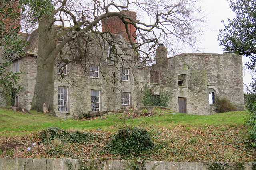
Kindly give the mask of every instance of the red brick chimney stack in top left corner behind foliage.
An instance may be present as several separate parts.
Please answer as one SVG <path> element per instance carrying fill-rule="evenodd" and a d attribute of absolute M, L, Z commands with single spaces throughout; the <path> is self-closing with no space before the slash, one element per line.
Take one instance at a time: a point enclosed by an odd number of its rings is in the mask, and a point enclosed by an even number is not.
<path fill-rule="evenodd" d="M 4 4 L 0 4 L 0 6 L 6 8 L 6 10 L 7 8 L 12 8 L 14 12 L 20 12 L 20 8 L 18 8 L 19 2 L 17 0 L 13 0 L 10 5 L 6 4 L 6 6 L 4 6 Z M 2 16 L 0 16 L 0 18 L 2 18 Z M 17 28 L 20 26 L 20 16 L 18 16 L 18 18 L 15 18 L 15 21 L 10 18 L 5 18 L 4 23 L 6 24 L 6 30 L 9 30 L 10 28 Z"/>

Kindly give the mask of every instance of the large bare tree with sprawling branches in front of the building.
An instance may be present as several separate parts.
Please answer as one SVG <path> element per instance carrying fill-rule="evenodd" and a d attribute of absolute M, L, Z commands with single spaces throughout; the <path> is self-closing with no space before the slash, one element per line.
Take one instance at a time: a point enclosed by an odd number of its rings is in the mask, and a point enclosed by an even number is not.
<path fill-rule="evenodd" d="M 89 55 L 93 43 L 97 42 L 102 49 L 103 45 L 107 44 L 109 56 L 116 57 L 109 58 L 114 64 L 138 61 L 142 56 L 144 61 L 151 62 L 157 45 L 166 44 L 170 47 L 169 51 L 173 52 L 176 52 L 174 42 L 194 47 L 197 33 L 194 28 L 202 21 L 201 11 L 195 6 L 196 0 L 21 0 L 20 2 L 26 6 L 24 21 L 28 22 L 25 25 L 31 25 L 31 21 L 38 23 L 38 66 L 32 102 L 32 109 L 36 111 L 42 111 L 44 103 L 49 111 L 54 111 L 54 65 L 57 58 L 64 62 L 62 66 L 70 62 L 86 62 L 86 59 L 93 55 L 97 56 L 100 62 L 102 56 L 100 50 Z M 128 15 L 129 11 L 136 11 L 138 17 Z M 120 20 L 123 24 L 125 29 L 123 37 L 134 51 L 133 56 L 122 57 L 125 53 L 118 51 L 117 46 L 120 47 L 123 41 L 119 41 L 118 36 L 110 29 L 106 29 L 107 23 L 104 21 L 108 18 Z M 131 27 L 134 28 L 133 31 Z M 65 51 L 64 47 L 70 48 Z M 67 53 L 72 53 L 70 55 L 72 57 L 64 57 L 66 55 L 63 54 Z M 112 72 L 112 77 L 115 76 L 114 72 L 115 70 Z M 102 74 L 108 73 L 102 72 Z"/>

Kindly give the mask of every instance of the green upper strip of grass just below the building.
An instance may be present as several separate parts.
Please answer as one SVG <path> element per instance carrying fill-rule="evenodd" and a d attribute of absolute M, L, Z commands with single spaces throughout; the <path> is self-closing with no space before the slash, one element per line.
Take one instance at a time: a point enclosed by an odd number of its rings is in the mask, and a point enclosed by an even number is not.
<path fill-rule="evenodd" d="M 227 125 L 240 126 L 248 118 L 246 111 L 236 111 L 220 113 L 215 115 L 188 115 L 182 113 L 166 114 L 168 111 L 155 111 L 156 115 L 151 117 L 140 117 L 134 119 L 134 125 L 149 125 L 158 127 L 175 127 L 180 125 Z M 0 109 L 0 135 L 16 135 L 38 131 L 45 127 L 58 126 L 63 129 L 83 129 L 83 130 L 107 130 L 115 131 L 114 126 L 122 126 L 123 120 L 116 115 L 107 115 L 107 119 L 92 119 L 78 121 L 73 119 L 62 120 L 48 114 L 33 112 L 34 115 L 23 114 Z M 132 119 L 125 119 L 125 123 L 130 124 Z M 118 124 L 118 125 L 117 125 Z"/>

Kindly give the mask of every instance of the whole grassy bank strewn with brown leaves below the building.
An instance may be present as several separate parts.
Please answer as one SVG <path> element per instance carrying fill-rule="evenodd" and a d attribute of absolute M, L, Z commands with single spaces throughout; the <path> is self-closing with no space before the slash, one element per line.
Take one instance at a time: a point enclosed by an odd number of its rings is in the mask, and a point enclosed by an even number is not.
<path fill-rule="evenodd" d="M 146 113 L 141 111 L 138 115 Z M 132 155 L 113 155 L 106 150 L 106 143 L 118 127 L 125 125 L 145 127 L 153 133 L 155 149 L 140 155 L 143 160 L 163 161 L 228 161 L 252 162 L 256 150 L 248 146 L 244 126 L 246 111 L 215 115 L 170 114 L 168 110 L 153 110 L 150 116 L 120 118 L 106 115 L 106 119 L 60 119 L 44 113 L 23 114 L 0 109 L 0 156 L 27 158 L 133 158 Z M 80 129 L 96 138 L 85 143 L 67 143 L 53 140 L 40 141 L 40 131 L 46 127 Z M 27 147 L 31 147 L 30 151 Z M 8 144 L 9 148 L 6 148 Z M 8 151 L 9 150 L 9 151 Z M 10 154 L 13 150 L 13 154 Z M 7 153 L 7 152 L 9 153 Z M 138 157 L 136 156 L 136 159 Z"/>

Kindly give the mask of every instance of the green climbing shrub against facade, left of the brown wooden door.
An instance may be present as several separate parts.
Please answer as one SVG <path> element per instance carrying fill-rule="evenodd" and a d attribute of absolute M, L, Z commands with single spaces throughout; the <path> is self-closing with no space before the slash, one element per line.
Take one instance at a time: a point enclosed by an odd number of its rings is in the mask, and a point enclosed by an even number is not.
<path fill-rule="evenodd" d="M 142 94 L 142 103 L 144 106 L 164 106 L 168 107 L 170 101 L 170 95 L 167 92 L 160 90 L 159 95 L 153 95 L 153 90 L 145 87 Z"/>

